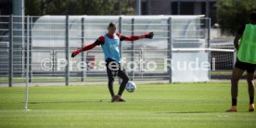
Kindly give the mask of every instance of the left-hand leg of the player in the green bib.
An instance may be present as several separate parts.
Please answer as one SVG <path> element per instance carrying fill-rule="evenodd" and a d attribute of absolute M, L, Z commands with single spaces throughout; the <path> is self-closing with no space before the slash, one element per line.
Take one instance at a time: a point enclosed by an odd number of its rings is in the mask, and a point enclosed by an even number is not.
<path fill-rule="evenodd" d="M 237 67 L 233 69 L 231 78 L 231 97 L 232 107 L 226 111 L 237 111 L 237 94 L 238 94 L 238 81 L 242 76 L 244 70 L 240 70 Z"/>

